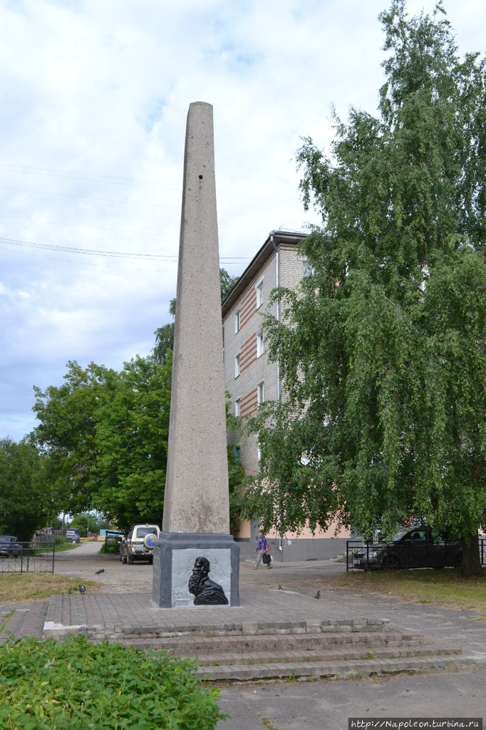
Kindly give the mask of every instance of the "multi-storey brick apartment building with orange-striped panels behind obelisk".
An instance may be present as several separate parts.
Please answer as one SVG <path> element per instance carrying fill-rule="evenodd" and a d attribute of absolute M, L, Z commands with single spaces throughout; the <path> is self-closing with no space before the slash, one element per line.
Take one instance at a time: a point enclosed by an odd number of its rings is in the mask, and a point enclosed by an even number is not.
<path fill-rule="evenodd" d="M 280 316 L 279 304 L 270 303 L 279 286 L 296 288 L 306 273 L 306 261 L 298 252 L 306 234 L 271 231 L 238 283 L 223 301 L 225 388 L 234 415 L 247 418 L 263 401 L 281 397 L 278 362 L 270 362 L 263 332 L 263 313 Z M 232 445 L 247 475 L 258 474 L 258 442 L 255 437 L 233 439 Z M 258 523 L 242 522 L 234 532 L 244 558 L 252 556 Z M 345 552 L 347 534 L 333 537 L 333 530 L 312 535 L 270 534 L 274 559 L 296 561 L 325 559 Z M 247 543 L 247 545 L 244 545 Z"/>

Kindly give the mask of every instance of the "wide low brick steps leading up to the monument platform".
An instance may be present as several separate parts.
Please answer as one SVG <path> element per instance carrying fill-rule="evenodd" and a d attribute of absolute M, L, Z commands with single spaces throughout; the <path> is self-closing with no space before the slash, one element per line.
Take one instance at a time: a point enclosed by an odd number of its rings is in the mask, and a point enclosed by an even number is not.
<path fill-rule="evenodd" d="M 285 623 L 283 627 L 282 622 L 266 621 L 225 630 L 166 627 L 163 635 L 145 626 L 128 628 L 109 640 L 193 659 L 196 675 L 216 682 L 366 677 L 465 664 L 458 650 L 441 648 L 421 634 L 392 631 L 386 620 Z"/>

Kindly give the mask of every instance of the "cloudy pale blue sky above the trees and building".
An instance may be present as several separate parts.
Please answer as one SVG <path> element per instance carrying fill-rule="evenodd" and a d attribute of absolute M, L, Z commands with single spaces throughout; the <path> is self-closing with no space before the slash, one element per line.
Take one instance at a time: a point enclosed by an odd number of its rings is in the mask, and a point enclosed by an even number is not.
<path fill-rule="evenodd" d="M 68 361 L 120 369 L 169 320 L 191 101 L 214 107 L 221 265 L 305 229 L 299 139 L 328 144 L 331 104 L 375 112 L 388 5 L 0 0 L 0 438 Z M 484 53 L 484 0 L 445 8 Z"/>

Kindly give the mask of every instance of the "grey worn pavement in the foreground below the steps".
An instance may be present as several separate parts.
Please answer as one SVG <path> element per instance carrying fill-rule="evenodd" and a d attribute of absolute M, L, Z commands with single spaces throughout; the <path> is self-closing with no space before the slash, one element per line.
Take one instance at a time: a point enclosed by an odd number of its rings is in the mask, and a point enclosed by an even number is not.
<path fill-rule="evenodd" d="M 484 666 L 380 680 L 230 685 L 219 704 L 231 718 L 217 730 L 347 730 L 348 718 L 356 717 L 430 718 L 430 726 L 432 718 L 484 718 L 485 686 Z"/>

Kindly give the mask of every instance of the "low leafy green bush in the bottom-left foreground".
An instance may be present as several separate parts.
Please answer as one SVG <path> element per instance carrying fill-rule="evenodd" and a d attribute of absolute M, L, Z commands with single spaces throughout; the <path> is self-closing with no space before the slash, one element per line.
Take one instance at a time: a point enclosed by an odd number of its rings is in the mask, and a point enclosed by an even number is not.
<path fill-rule="evenodd" d="M 187 659 L 85 637 L 0 646 L 0 727 L 214 730 L 225 715 Z"/>

